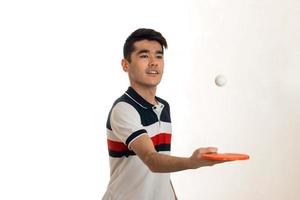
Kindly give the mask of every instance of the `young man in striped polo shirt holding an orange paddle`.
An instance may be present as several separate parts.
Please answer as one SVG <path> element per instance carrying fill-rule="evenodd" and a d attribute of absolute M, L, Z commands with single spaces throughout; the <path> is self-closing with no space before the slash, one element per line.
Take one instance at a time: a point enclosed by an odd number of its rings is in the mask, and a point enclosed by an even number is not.
<path fill-rule="evenodd" d="M 152 29 L 134 31 L 124 44 L 122 67 L 130 87 L 115 101 L 107 120 L 110 182 L 103 200 L 174 200 L 170 172 L 212 166 L 216 153 L 199 148 L 190 157 L 170 155 L 169 104 L 156 97 L 164 70 L 165 38 Z"/>

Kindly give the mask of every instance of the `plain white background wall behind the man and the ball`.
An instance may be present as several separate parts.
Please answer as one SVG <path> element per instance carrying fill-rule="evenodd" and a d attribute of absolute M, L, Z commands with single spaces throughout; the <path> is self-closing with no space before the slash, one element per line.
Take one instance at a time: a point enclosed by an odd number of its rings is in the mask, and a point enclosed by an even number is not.
<path fill-rule="evenodd" d="M 251 156 L 172 174 L 178 197 L 298 199 L 299 21 L 297 0 L 1 1 L 0 199 L 101 199 L 106 118 L 128 87 L 122 47 L 140 27 L 169 43 L 158 96 L 172 154 Z"/>

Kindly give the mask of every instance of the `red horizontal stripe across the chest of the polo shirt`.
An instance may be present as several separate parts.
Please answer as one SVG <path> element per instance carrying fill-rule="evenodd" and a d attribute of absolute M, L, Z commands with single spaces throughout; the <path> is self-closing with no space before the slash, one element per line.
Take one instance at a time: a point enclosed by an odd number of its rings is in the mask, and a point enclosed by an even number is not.
<path fill-rule="evenodd" d="M 170 133 L 160 133 L 154 137 L 151 137 L 153 145 L 160 144 L 171 144 L 171 134 Z M 128 147 L 123 142 L 116 142 L 107 139 L 108 149 L 111 151 L 129 151 Z"/>

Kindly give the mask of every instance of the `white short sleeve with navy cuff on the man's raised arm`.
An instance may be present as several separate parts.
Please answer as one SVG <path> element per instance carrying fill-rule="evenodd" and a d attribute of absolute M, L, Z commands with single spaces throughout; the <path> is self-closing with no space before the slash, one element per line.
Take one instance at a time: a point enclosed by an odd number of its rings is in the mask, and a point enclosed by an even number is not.
<path fill-rule="evenodd" d="M 112 131 L 124 144 L 130 146 L 136 138 L 147 133 L 137 110 L 126 102 L 117 103 L 110 116 Z"/>

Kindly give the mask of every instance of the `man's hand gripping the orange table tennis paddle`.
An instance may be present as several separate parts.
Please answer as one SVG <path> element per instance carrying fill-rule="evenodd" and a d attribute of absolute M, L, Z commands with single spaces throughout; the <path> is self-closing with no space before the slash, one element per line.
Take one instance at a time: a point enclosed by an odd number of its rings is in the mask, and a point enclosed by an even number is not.
<path fill-rule="evenodd" d="M 212 161 L 203 159 L 202 155 L 207 153 L 218 153 L 218 149 L 215 147 L 199 148 L 194 151 L 189 158 L 191 162 L 191 168 L 197 169 L 199 167 L 213 166 L 215 164 L 223 163 L 225 161 Z"/>

